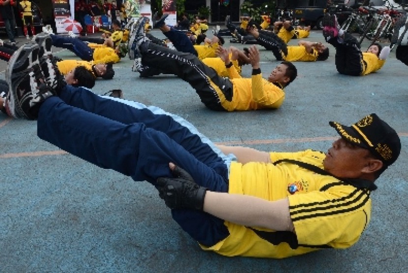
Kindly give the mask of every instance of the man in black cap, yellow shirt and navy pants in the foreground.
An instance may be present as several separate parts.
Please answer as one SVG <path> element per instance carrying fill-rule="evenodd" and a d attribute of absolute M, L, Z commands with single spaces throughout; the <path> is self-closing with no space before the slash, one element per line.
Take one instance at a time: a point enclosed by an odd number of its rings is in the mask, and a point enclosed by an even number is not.
<path fill-rule="evenodd" d="M 182 229 L 222 255 L 352 246 L 370 221 L 374 182 L 400 154 L 397 133 L 376 114 L 351 126 L 330 122 L 341 137 L 326 153 L 217 147 L 161 109 L 52 87 L 36 54 L 21 48 L 10 60 L 7 112 L 38 119 L 38 136 L 73 155 L 153 184 Z"/>

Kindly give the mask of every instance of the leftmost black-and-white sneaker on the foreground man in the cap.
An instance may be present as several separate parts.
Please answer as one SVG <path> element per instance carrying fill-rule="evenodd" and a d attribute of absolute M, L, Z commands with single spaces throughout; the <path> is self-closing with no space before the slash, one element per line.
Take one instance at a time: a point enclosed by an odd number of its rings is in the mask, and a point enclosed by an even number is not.
<path fill-rule="evenodd" d="M 25 44 L 8 62 L 5 78 L 9 93 L 5 109 L 15 118 L 37 118 L 41 103 L 53 95 L 40 69 L 39 49 L 36 43 Z"/>

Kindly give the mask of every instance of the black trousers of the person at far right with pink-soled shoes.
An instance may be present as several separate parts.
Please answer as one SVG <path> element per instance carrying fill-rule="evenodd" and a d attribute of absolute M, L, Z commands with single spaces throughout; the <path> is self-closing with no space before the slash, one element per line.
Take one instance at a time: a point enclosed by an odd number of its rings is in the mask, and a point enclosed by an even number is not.
<path fill-rule="evenodd" d="M 340 43 L 331 38 L 327 41 L 336 48 L 336 68 L 340 74 L 349 76 L 361 76 L 364 69 L 363 54 L 359 48 L 357 39 L 350 33 L 344 33 L 344 41 Z"/>

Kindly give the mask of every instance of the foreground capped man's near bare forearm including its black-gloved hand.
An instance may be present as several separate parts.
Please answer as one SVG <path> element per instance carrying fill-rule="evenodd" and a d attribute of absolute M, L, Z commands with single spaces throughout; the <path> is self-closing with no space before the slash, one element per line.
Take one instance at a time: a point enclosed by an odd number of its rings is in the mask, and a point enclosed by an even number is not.
<path fill-rule="evenodd" d="M 201 210 L 236 224 L 294 231 L 288 198 L 268 201 L 249 195 L 207 191 L 185 170 L 173 163 L 169 165 L 175 178 L 157 179 L 160 197 L 169 208 Z"/>

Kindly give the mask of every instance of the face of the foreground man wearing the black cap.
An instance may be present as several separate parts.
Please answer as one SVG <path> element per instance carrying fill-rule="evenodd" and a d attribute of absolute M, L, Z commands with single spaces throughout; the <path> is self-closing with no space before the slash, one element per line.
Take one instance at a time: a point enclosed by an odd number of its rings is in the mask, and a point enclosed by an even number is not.
<path fill-rule="evenodd" d="M 323 166 L 326 171 L 342 178 L 359 178 L 368 164 L 370 151 L 339 138 L 328 149 Z"/>

